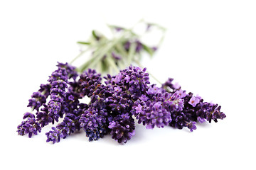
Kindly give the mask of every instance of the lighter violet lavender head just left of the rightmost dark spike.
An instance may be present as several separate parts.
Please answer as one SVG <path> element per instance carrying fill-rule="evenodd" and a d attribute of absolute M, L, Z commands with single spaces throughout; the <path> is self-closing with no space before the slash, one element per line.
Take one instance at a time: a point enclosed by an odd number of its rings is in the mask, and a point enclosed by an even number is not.
<path fill-rule="evenodd" d="M 139 97 L 134 102 L 132 114 L 138 123 L 146 125 L 146 128 L 164 128 L 171 122 L 171 113 L 182 111 L 183 99 L 177 93 L 170 94 L 155 84 L 149 86 L 146 95 Z"/>

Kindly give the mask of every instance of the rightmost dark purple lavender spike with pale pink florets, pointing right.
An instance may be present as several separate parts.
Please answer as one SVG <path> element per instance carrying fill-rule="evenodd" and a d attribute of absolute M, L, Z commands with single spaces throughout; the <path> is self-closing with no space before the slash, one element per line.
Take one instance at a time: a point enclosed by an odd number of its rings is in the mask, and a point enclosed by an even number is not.
<path fill-rule="evenodd" d="M 191 92 L 186 94 L 181 86 L 172 83 L 173 80 L 169 78 L 162 88 L 173 94 L 178 94 L 183 99 L 184 106 L 181 111 L 171 113 L 172 121 L 169 125 L 179 129 L 187 127 L 192 132 L 196 130 L 196 122 L 203 123 L 207 120 L 210 123 L 211 120 L 217 122 L 218 119 L 225 118 L 225 114 L 220 111 L 218 104 L 203 102 L 201 96 L 193 96 Z"/>

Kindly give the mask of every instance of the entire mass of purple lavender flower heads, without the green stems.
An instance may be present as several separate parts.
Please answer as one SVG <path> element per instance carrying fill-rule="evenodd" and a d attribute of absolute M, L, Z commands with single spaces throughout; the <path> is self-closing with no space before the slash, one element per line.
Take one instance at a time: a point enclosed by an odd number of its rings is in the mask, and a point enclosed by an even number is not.
<path fill-rule="evenodd" d="M 170 125 L 187 127 L 192 132 L 196 122 L 225 118 L 218 104 L 187 94 L 172 83 L 173 79 L 161 87 L 150 84 L 149 74 L 140 67 L 127 67 L 114 76 L 108 74 L 104 83 L 94 69 L 78 74 L 68 63 L 58 63 L 57 67 L 48 84 L 41 84 L 28 100 L 31 112 L 24 114 L 18 135 L 38 135 L 41 128 L 63 118 L 46 132 L 46 142 L 60 142 L 82 129 L 89 141 L 109 133 L 117 142 L 126 143 L 135 134 L 135 119 L 149 129 Z M 85 96 L 90 98 L 89 103 L 80 101 Z"/>

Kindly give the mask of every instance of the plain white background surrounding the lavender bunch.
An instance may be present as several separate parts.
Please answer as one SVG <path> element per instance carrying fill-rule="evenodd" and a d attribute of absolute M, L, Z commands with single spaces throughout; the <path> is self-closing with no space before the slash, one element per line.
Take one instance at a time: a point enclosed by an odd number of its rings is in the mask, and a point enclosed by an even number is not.
<path fill-rule="evenodd" d="M 255 1 L 1 1 L 1 169 L 256 169 Z M 105 23 L 129 27 L 144 18 L 167 28 L 144 65 L 160 81 L 222 106 L 218 123 L 146 130 L 119 145 L 110 135 L 88 142 L 83 131 L 61 142 L 18 136 L 28 98 L 57 61 L 79 54 L 78 40 Z M 3 168 L 5 167 L 5 168 Z"/>

